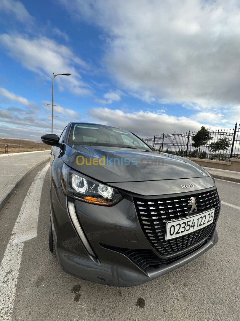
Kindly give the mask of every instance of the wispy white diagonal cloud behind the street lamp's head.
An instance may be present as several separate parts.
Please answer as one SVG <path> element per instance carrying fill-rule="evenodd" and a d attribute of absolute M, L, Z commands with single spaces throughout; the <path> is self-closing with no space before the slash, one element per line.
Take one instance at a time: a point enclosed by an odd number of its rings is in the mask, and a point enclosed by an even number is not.
<path fill-rule="evenodd" d="M 47 79 L 51 79 L 52 72 L 70 73 L 71 76 L 55 78 L 60 88 L 67 88 L 77 95 L 91 94 L 91 88 L 77 71 L 79 68 L 89 69 L 89 65 L 68 47 L 46 37 L 28 39 L 21 35 L 2 34 L 0 41 L 9 50 L 10 56 L 19 60 L 28 70 Z"/>

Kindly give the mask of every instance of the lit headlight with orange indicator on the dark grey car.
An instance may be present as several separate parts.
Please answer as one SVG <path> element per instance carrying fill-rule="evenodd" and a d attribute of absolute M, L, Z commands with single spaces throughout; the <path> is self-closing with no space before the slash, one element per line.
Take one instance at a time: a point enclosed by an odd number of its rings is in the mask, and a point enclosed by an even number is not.
<path fill-rule="evenodd" d="M 62 167 L 61 183 L 66 195 L 80 201 L 111 206 L 123 199 L 115 188 L 89 179 L 66 164 Z"/>

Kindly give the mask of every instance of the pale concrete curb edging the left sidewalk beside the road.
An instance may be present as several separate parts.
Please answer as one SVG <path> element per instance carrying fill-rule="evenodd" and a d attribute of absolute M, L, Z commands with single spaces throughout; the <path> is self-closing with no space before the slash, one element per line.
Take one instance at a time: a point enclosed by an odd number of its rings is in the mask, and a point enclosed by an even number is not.
<path fill-rule="evenodd" d="M 7 203 L 7 200 L 9 199 L 9 197 L 15 192 L 16 187 L 20 184 L 22 179 L 24 177 L 26 177 L 37 166 L 39 166 L 39 165 L 43 164 L 44 162 L 50 160 L 50 158 L 51 158 L 51 156 L 45 158 L 44 160 L 40 160 L 38 163 L 34 164 L 30 168 L 28 167 L 28 168 L 23 169 L 20 174 L 18 174 L 15 178 L 12 179 L 11 182 L 9 182 L 6 186 L 4 186 L 2 188 L 2 190 L 5 192 L 5 194 L 0 199 L 0 211 L 4 207 L 4 205 Z"/>

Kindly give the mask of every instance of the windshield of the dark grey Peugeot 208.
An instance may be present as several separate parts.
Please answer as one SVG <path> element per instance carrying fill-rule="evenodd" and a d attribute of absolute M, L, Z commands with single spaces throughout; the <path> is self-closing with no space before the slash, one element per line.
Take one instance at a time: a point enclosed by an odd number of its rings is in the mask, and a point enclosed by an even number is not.
<path fill-rule="evenodd" d="M 68 144 L 112 146 L 149 151 L 146 143 L 124 129 L 84 123 L 72 124 Z"/>

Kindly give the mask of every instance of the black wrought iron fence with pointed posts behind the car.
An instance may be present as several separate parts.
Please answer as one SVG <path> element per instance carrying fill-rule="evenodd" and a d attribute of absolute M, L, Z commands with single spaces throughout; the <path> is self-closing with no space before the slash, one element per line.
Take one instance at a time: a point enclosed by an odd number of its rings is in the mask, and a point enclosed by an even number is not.
<path fill-rule="evenodd" d="M 192 146 L 193 137 L 197 132 L 177 133 L 175 131 L 172 134 L 155 134 L 154 137 L 143 138 L 143 140 L 160 152 L 178 156 L 221 161 L 229 161 L 230 158 L 240 159 L 240 124 L 237 125 L 236 123 L 235 127 L 229 130 L 213 131 L 211 127 L 207 129 L 212 138 L 198 148 Z M 211 143 L 215 143 L 220 138 L 225 137 L 228 140 L 228 148 L 218 152 L 211 152 L 209 148 Z"/>

